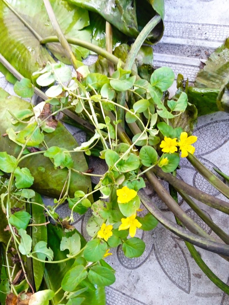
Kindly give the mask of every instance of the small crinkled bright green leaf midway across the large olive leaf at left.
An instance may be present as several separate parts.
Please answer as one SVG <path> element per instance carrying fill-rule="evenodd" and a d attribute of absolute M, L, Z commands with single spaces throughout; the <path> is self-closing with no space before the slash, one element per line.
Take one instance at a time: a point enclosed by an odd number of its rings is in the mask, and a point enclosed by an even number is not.
<path fill-rule="evenodd" d="M 71 168 L 73 166 L 71 155 L 69 152 L 67 152 L 66 148 L 62 148 L 58 146 L 49 147 L 45 151 L 44 156 L 50 158 L 51 161 L 54 162 L 55 168 L 56 167 Z"/>

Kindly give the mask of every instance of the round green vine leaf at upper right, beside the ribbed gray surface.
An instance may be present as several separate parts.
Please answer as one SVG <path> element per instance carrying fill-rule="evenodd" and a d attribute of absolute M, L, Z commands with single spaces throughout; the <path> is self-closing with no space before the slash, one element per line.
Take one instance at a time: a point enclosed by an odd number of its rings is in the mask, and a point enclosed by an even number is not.
<path fill-rule="evenodd" d="M 169 67 L 161 67 L 154 71 L 151 75 L 150 83 L 161 91 L 165 91 L 172 86 L 175 79 L 174 72 Z"/>

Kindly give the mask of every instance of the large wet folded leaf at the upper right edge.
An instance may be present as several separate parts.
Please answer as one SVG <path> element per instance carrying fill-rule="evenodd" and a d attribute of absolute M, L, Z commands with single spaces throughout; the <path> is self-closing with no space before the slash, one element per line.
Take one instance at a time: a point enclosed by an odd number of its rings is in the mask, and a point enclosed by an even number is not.
<path fill-rule="evenodd" d="M 188 88 L 188 101 L 198 109 L 198 115 L 218 110 L 216 98 L 229 77 L 229 38 L 216 49 L 197 74 L 194 87 Z M 220 108 L 222 110 L 222 107 Z"/>

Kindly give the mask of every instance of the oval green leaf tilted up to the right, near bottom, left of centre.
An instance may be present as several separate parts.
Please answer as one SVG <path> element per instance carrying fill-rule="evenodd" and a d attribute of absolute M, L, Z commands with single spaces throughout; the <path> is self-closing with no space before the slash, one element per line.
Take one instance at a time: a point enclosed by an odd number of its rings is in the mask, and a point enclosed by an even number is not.
<path fill-rule="evenodd" d="M 64 275 L 61 287 L 64 291 L 74 291 L 79 283 L 87 277 L 87 274 L 83 265 L 73 267 Z"/>

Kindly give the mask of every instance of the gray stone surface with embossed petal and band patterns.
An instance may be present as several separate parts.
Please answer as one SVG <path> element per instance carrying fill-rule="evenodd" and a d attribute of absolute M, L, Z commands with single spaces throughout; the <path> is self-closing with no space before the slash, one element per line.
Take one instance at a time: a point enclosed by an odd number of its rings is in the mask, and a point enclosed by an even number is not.
<path fill-rule="evenodd" d="M 175 74 L 182 73 L 190 81 L 199 70 L 204 59 L 214 48 L 229 36 L 229 20 L 226 11 L 228 0 L 165 0 L 165 34 L 161 42 L 154 46 L 155 66 L 170 66 Z M 90 58 L 89 61 L 93 61 Z M 0 74 L 0 86 L 11 94 L 13 87 Z M 175 91 L 175 86 L 173 86 Z M 85 134 L 68 127 L 78 142 L 85 141 Z M 200 117 L 194 134 L 198 136 L 196 155 L 212 169 L 217 167 L 229 175 L 229 115 L 213 113 Z M 185 182 L 224 198 L 185 160 L 181 162 L 178 175 Z M 103 160 L 91 159 L 90 167 L 95 172 L 104 172 Z M 93 181 L 96 183 L 96 180 Z M 162 181 L 165 188 L 167 183 Z M 146 192 L 171 220 L 173 214 L 147 185 Z M 224 198 L 225 199 L 225 198 Z M 228 217 L 217 210 L 197 202 L 220 227 L 229 233 Z M 209 227 L 189 208 L 181 198 L 179 204 L 209 234 L 215 236 Z M 67 205 L 58 210 L 62 217 L 69 214 Z M 142 215 L 146 213 L 143 210 Z M 90 212 L 85 216 L 74 214 L 74 225 L 86 239 L 89 236 L 85 224 Z M 184 242 L 158 225 L 152 231 L 138 230 L 138 236 L 146 243 L 142 257 L 128 259 L 120 248 L 113 250 L 107 262 L 116 270 L 117 281 L 106 288 L 107 305 L 229 305 L 229 297 L 218 289 L 198 268 Z M 206 264 L 224 282 L 228 282 L 228 263 L 216 254 L 197 248 Z"/>

